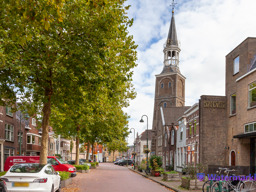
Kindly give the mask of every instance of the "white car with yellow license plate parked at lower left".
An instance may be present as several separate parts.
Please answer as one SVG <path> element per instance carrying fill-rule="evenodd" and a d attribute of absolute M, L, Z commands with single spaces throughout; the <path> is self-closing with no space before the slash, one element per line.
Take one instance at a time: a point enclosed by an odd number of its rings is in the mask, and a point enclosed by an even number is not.
<path fill-rule="evenodd" d="M 14 164 L 1 178 L 8 192 L 60 192 L 61 188 L 59 173 L 49 164 Z"/>

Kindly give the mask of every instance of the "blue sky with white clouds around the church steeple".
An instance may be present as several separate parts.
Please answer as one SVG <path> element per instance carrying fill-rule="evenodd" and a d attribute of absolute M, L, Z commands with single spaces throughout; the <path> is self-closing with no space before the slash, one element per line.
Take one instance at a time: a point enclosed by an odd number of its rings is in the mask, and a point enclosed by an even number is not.
<path fill-rule="evenodd" d="M 201 95 L 225 96 L 225 56 L 247 37 L 256 37 L 256 0 L 174 0 L 177 38 L 181 42 L 180 72 L 186 77 L 185 106 Z M 138 44 L 133 69 L 137 96 L 124 108 L 135 135 L 152 129 L 156 74 L 163 69 L 163 44 L 172 18 L 172 0 L 127 0 L 133 26 L 128 28 Z M 132 145 L 134 132 L 129 135 Z"/>

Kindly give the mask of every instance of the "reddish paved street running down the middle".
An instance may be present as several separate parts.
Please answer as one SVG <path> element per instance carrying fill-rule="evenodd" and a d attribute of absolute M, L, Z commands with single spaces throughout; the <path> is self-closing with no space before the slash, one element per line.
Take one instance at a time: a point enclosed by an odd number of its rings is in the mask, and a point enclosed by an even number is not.
<path fill-rule="evenodd" d="M 100 163 L 100 166 L 97 169 L 91 169 L 90 173 L 78 174 L 73 178 L 73 183 L 68 188 L 70 190 L 65 188 L 62 191 L 170 192 L 169 189 L 132 172 L 125 166 L 117 166 L 113 163 Z"/>

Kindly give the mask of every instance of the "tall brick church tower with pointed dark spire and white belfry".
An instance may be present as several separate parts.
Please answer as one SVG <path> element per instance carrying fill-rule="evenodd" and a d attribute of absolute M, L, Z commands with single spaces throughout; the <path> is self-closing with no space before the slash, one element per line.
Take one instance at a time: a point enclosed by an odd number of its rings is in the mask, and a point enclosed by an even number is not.
<path fill-rule="evenodd" d="M 160 74 L 156 75 L 154 114 L 152 125 L 152 152 L 155 151 L 154 130 L 158 126 L 160 107 L 181 107 L 185 104 L 185 77 L 180 73 L 180 40 L 177 40 L 174 11 L 168 38 L 164 44 L 164 66 Z"/>

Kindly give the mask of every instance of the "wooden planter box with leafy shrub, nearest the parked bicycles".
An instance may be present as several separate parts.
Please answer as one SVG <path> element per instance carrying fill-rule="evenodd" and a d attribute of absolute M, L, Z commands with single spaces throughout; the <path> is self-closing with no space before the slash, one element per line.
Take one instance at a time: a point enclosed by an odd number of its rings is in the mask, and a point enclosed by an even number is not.
<path fill-rule="evenodd" d="M 197 180 L 196 174 L 203 173 L 206 170 L 207 165 L 199 163 L 194 166 L 194 163 L 192 163 L 191 165 L 186 165 L 186 167 L 188 176 L 181 178 L 181 186 L 187 189 L 202 189 L 204 181 Z"/>

